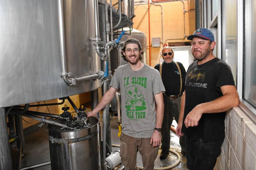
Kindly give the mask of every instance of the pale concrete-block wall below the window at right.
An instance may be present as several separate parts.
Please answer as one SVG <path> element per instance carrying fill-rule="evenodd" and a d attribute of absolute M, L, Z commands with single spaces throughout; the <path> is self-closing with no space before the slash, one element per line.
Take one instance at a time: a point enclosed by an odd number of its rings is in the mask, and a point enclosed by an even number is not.
<path fill-rule="evenodd" d="M 226 136 L 214 169 L 256 170 L 256 125 L 239 107 L 225 119 Z"/>

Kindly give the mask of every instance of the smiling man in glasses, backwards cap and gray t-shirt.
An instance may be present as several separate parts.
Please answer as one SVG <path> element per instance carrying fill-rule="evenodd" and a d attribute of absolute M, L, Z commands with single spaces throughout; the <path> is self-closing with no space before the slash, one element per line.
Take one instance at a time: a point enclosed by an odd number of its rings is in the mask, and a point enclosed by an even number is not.
<path fill-rule="evenodd" d="M 161 143 L 163 121 L 163 92 L 159 72 L 140 62 L 143 49 L 137 39 L 125 41 L 121 55 L 126 65 L 119 66 L 111 80 L 110 89 L 99 104 L 88 112 L 94 116 L 121 91 L 122 134 L 120 156 L 125 169 L 138 169 L 137 152 L 142 156 L 144 169 L 153 170 Z M 157 109 L 155 109 L 155 103 Z"/>

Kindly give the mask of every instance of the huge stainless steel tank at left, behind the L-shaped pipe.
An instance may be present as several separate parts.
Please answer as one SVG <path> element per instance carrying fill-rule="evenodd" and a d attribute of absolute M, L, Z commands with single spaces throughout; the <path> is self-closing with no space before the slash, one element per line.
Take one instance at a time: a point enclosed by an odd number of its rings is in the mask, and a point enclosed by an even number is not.
<path fill-rule="evenodd" d="M 0 107 L 56 99 L 101 86 L 100 80 L 67 85 L 60 77 L 57 0 L 0 1 Z M 67 72 L 95 74 L 100 58 L 95 38 L 93 0 L 63 0 Z"/>

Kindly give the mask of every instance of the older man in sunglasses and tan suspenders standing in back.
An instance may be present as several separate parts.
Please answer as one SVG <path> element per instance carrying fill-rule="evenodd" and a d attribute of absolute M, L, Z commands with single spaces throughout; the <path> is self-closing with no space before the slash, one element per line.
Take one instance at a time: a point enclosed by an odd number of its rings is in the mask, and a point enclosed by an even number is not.
<path fill-rule="evenodd" d="M 162 77 L 165 92 L 163 93 L 164 101 L 164 116 L 162 124 L 162 151 L 160 159 L 165 159 L 169 155 L 170 149 L 170 128 L 173 122 L 173 117 L 178 122 L 180 113 L 180 101 L 184 91 L 185 82 L 182 80 L 185 77 L 186 70 L 179 62 L 174 62 L 173 49 L 166 46 L 162 50 L 164 62 L 157 64 L 155 69 L 160 72 Z M 185 136 L 179 139 L 181 153 L 186 155 Z"/>

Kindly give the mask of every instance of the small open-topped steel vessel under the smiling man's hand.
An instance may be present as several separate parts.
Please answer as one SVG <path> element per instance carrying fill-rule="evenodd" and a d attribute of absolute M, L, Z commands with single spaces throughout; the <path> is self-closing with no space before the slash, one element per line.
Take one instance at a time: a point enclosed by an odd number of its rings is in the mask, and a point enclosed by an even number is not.
<path fill-rule="evenodd" d="M 56 120 L 65 123 L 65 120 Z M 90 117 L 90 128 L 78 131 L 66 130 L 48 124 L 51 169 L 99 170 L 99 119 Z"/>

